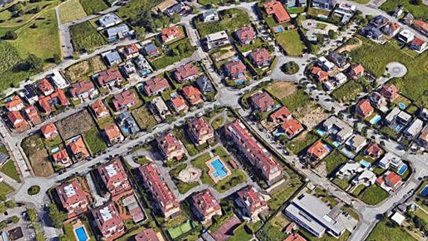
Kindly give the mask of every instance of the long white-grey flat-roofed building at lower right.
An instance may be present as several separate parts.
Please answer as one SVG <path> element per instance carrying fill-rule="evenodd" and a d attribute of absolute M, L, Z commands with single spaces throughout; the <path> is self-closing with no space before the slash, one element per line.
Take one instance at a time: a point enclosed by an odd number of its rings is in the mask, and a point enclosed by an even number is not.
<path fill-rule="evenodd" d="M 294 198 L 285 208 L 285 215 L 318 238 L 325 232 L 339 238 L 345 232 L 338 215 L 312 194 L 304 193 Z"/>

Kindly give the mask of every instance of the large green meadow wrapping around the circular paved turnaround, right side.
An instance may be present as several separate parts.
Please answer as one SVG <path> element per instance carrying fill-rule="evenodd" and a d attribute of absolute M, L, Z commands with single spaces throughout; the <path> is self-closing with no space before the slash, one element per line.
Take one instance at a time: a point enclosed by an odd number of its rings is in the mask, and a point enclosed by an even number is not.
<path fill-rule="evenodd" d="M 413 58 L 403 54 L 394 43 L 380 45 L 366 38 L 359 38 L 363 44 L 350 52 L 354 62 L 362 64 L 366 71 L 373 73 L 376 77 L 380 77 L 385 72 L 385 67 L 390 62 L 397 61 L 404 64 L 408 70 L 407 74 L 401 78 L 392 79 L 392 83 L 413 102 L 422 98 L 424 91 L 428 89 L 428 69 L 421 68 L 421 66 L 428 66 L 427 53 Z"/>

